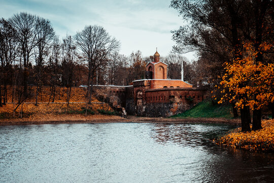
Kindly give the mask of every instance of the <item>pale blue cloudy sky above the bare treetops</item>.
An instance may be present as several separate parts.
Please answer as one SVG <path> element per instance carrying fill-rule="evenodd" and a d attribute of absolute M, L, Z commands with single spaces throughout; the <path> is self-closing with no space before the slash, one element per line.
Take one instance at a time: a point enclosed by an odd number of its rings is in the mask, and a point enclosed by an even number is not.
<path fill-rule="evenodd" d="M 100 25 L 121 42 L 120 53 L 141 50 L 153 55 L 156 47 L 162 56 L 175 44 L 170 31 L 183 20 L 169 8 L 169 0 L 0 0 L 0 14 L 9 18 L 27 12 L 49 19 L 60 38 L 75 35 L 85 25 Z M 193 53 L 185 54 L 189 60 Z"/>

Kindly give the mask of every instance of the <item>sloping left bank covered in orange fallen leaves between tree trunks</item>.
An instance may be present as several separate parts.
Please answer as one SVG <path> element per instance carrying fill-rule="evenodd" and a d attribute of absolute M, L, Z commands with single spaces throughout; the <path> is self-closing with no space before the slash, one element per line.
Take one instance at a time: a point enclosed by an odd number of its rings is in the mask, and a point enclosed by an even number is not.
<path fill-rule="evenodd" d="M 106 103 L 99 102 L 95 97 L 92 104 L 86 105 L 86 89 L 73 87 L 70 96 L 70 104 L 67 105 L 67 88 L 58 87 L 55 92 L 55 100 L 52 103 L 50 87 L 43 86 L 38 96 L 38 105 L 35 105 L 36 87 L 29 87 L 30 95 L 14 112 L 17 104 L 12 104 L 12 88 L 8 87 L 8 103 L 0 107 L 0 119 L 28 118 L 31 116 L 46 114 L 104 114 L 117 115 Z M 14 96 L 16 102 L 18 96 Z M 50 102 L 50 103 L 49 103 Z M 87 108 L 87 110 L 86 110 Z"/>

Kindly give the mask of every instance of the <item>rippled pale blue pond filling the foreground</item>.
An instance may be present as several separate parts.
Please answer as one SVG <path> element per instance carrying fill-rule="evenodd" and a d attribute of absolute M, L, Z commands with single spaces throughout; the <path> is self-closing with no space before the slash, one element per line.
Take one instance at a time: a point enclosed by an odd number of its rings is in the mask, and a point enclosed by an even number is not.
<path fill-rule="evenodd" d="M 274 155 L 216 146 L 228 125 L 0 127 L 0 182 L 269 182 Z"/>

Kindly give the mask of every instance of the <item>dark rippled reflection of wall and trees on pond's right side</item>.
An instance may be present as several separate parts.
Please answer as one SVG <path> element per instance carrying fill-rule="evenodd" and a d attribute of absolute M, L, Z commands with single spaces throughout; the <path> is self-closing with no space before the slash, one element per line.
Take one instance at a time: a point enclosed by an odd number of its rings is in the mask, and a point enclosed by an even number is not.
<path fill-rule="evenodd" d="M 267 182 L 274 179 L 274 156 L 216 146 L 211 139 L 232 129 L 231 126 L 154 124 L 153 138 L 161 144 L 182 146 L 183 158 L 192 159 L 184 171 L 195 172 L 193 181 Z M 187 153 L 184 153 L 187 152 Z M 191 153 L 189 153 L 191 152 Z M 194 165 L 194 166 L 193 166 Z M 198 178 L 197 178 L 198 177 Z"/>

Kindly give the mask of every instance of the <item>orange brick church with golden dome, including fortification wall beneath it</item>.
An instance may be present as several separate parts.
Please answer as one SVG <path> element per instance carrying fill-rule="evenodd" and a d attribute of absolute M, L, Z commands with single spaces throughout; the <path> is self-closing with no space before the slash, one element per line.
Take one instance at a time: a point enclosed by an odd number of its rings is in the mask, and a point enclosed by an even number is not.
<path fill-rule="evenodd" d="M 107 96 L 118 97 L 128 114 L 140 116 L 178 114 L 205 99 L 207 90 L 192 87 L 180 79 L 167 79 L 167 69 L 156 50 L 154 62 L 146 66 L 146 79 L 135 80 L 131 86 L 95 87 L 105 88 Z"/>

